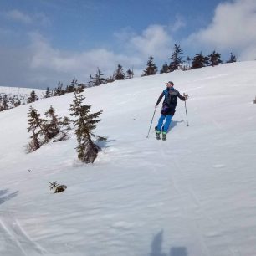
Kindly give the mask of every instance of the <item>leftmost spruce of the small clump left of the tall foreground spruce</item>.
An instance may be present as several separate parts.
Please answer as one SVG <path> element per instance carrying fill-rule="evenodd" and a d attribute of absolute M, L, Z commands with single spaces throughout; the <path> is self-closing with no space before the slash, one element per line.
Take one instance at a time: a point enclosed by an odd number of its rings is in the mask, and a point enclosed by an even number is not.
<path fill-rule="evenodd" d="M 38 111 L 30 106 L 28 111 L 28 132 L 32 131 L 32 136 L 30 136 L 31 141 L 27 146 L 28 152 L 36 151 L 42 145 L 39 136 L 42 133 L 43 122 L 44 120 L 40 119 Z"/>

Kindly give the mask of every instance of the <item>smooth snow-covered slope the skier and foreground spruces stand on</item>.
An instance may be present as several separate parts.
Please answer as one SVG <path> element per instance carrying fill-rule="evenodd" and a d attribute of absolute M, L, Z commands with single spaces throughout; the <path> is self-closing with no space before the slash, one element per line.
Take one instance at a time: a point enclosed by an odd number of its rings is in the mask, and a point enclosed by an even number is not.
<path fill-rule="evenodd" d="M 25 154 L 29 105 L 0 113 L 0 254 L 256 255 L 256 62 L 116 81 L 85 90 L 107 136 L 94 164 L 69 141 Z M 190 95 L 167 141 L 146 135 L 166 81 Z M 39 100 L 69 115 L 72 94 Z M 159 118 L 156 110 L 152 128 Z M 49 182 L 67 190 L 53 194 Z"/>

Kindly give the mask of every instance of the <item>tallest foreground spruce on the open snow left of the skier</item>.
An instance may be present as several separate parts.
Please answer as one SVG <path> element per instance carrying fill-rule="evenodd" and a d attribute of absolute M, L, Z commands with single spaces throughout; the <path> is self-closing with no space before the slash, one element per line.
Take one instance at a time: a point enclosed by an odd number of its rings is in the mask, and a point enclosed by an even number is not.
<path fill-rule="evenodd" d="M 100 121 L 100 119 L 97 118 L 102 113 L 102 110 L 91 114 L 91 105 L 82 105 L 84 100 L 85 97 L 82 92 L 79 92 L 78 94 L 74 91 L 73 104 L 70 104 L 69 110 L 71 111 L 70 115 L 76 117 L 74 126 L 75 135 L 78 141 L 78 146 L 76 147 L 78 158 L 85 163 L 93 163 L 100 151 L 100 146 L 97 146 L 94 141 L 92 141 L 92 137 L 96 137 L 100 141 L 105 140 L 104 137 L 95 136 L 92 132 L 95 129 L 96 124 Z"/>

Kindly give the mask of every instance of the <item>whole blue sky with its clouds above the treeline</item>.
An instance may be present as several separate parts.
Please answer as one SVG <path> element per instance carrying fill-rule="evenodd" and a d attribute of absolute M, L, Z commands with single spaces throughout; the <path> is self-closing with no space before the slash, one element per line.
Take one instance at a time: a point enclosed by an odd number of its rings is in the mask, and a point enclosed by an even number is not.
<path fill-rule="evenodd" d="M 214 49 L 227 60 L 256 59 L 254 0 L 1 0 L 0 85 L 33 88 L 86 83 L 117 64 L 141 75 L 150 55 L 169 62 Z"/>

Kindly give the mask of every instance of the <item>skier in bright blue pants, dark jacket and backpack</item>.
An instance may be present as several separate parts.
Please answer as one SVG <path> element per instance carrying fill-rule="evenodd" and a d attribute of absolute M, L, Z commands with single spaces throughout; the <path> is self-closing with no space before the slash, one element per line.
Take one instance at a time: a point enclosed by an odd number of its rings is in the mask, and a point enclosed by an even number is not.
<path fill-rule="evenodd" d="M 172 81 L 167 82 L 166 86 L 166 90 L 163 90 L 155 106 L 157 108 L 157 105 L 160 103 L 163 96 L 165 96 L 165 100 L 163 101 L 161 108 L 161 116 L 158 120 L 157 126 L 155 127 L 156 138 L 160 140 L 160 134 L 162 132 L 162 139 L 164 141 L 166 140 L 166 132 L 168 131 L 169 125 L 171 124 L 172 116 L 174 115 L 176 110 L 177 97 L 179 97 L 179 99 L 183 101 L 188 99 L 188 95 L 183 94 L 182 96 L 176 89 L 173 88 L 174 84 Z M 164 120 L 166 121 L 163 125 Z"/>

